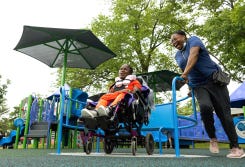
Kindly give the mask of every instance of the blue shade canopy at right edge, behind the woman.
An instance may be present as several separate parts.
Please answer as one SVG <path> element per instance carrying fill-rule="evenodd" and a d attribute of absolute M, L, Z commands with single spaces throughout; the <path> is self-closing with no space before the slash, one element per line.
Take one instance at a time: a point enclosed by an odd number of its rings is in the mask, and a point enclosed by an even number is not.
<path fill-rule="evenodd" d="M 245 81 L 230 95 L 231 107 L 245 106 Z"/>

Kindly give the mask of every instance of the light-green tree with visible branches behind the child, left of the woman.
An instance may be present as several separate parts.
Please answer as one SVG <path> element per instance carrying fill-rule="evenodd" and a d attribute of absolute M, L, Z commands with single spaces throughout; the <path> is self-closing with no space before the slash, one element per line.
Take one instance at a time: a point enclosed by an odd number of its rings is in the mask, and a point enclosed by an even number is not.
<path fill-rule="evenodd" d="M 167 48 L 170 33 L 188 23 L 188 19 L 176 14 L 180 4 L 152 0 L 114 0 L 112 4 L 112 16 L 98 16 L 91 27 L 118 56 L 93 71 L 69 69 L 70 84 L 76 83 L 74 86 L 81 88 L 79 80 L 101 88 L 105 81 L 113 82 L 123 63 L 131 64 L 135 73 L 159 69 L 178 71 Z"/>

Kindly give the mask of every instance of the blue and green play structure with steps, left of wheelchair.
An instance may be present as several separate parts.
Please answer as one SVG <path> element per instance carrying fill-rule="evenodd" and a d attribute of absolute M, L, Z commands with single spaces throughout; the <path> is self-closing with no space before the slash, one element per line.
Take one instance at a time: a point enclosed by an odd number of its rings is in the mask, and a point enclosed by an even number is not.
<path fill-rule="evenodd" d="M 69 103 L 65 104 L 68 117 L 64 116 L 64 122 L 62 124 L 62 133 L 64 135 L 62 140 L 65 140 L 65 142 L 63 142 L 63 146 L 68 146 L 68 148 L 76 148 L 76 135 L 78 133 L 77 130 L 79 129 L 76 128 L 77 118 L 80 117 L 80 110 L 84 107 L 88 95 L 79 89 L 68 88 L 66 89 L 66 92 L 73 98 L 73 101 L 68 100 Z M 34 140 L 33 148 L 38 148 L 40 139 L 42 139 L 41 142 L 43 148 L 45 143 L 47 148 L 51 148 L 51 144 L 53 142 L 54 148 L 57 147 L 57 118 L 59 118 L 60 105 L 59 94 L 55 92 L 45 99 L 30 95 L 21 101 L 19 107 L 19 118 L 24 121 L 25 126 L 22 127 L 22 129 L 17 127 L 16 132 L 11 132 L 12 136 L 16 136 L 14 148 L 18 148 L 21 137 L 23 137 L 23 148 L 28 147 L 30 140 Z M 79 105 L 76 101 L 83 102 L 83 104 Z M 73 131 L 70 130 L 74 130 L 75 132 L 73 133 Z M 55 134 L 53 134 L 53 132 Z M 71 138 L 73 138 L 73 141 L 70 140 Z"/>

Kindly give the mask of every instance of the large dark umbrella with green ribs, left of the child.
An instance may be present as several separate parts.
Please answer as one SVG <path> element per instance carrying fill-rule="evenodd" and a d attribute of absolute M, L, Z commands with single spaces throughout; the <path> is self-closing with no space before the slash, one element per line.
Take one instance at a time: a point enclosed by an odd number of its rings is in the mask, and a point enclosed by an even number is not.
<path fill-rule="evenodd" d="M 49 67 L 62 67 L 62 86 L 65 83 L 66 67 L 95 69 L 116 56 L 90 30 L 33 26 L 24 26 L 14 50 Z"/>

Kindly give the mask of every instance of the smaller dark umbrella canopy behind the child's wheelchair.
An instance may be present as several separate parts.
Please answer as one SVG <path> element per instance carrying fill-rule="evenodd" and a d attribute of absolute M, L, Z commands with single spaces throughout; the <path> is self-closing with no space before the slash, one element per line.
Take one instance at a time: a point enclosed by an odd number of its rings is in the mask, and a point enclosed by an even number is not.
<path fill-rule="evenodd" d="M 172 90 L 172 80 L 174 77 L 180 76 L 180 74 L 169 70 L 161 70 L 138 74 L 137 76 L 143 77 L 147 85 L 152 88 L 154 92 L 162 92 Z M 184 83 L 177 82 L 176 89 L 179 90 L 183 85 Z"/>

